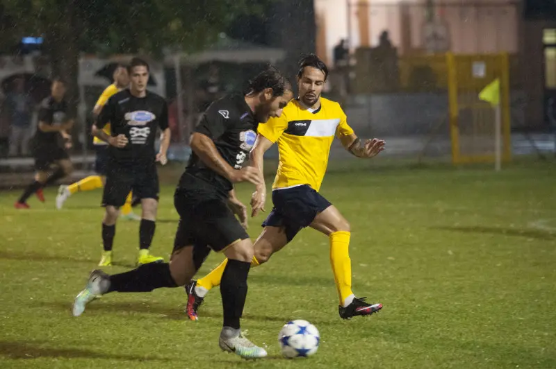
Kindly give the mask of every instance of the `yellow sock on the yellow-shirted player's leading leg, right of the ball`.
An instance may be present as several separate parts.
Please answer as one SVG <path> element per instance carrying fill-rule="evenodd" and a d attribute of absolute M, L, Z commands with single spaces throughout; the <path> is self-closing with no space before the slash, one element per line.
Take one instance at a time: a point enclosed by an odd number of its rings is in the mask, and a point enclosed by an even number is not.
<path fill-rule="evenodd" d="M 330 238 L 330 264 L 334 272 L 334 282 L 338 290 L 340 304 L 353 295 L 352 292 L 352 261 L 350 259 L 350 232 L 332 232 Z"/>

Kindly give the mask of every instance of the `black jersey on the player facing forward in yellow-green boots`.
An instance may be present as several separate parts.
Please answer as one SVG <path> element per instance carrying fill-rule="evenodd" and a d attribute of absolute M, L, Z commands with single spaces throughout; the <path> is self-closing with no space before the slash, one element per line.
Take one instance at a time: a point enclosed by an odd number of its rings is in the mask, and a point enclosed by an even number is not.
<path fill-rule="evenodd" d="M 110 146 L 112 160 L 122 164 L 154 162 L 154 139 L 157 128 L 168 128 L 168 107 L 162 96 L 147 91 L 145 97 L 136 97 L 123 89 L 108 99 L 102 108 L 97 128 L 111 124 L 111 135 L 126 135 L 123 148 Z"/>

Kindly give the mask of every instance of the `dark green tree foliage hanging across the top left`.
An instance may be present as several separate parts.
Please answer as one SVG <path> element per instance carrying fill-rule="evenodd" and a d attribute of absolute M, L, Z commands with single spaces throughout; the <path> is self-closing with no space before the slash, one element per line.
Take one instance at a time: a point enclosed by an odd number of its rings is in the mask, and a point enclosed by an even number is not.
<path fill-rule="evenodd" d="M 272 1 L 272 0 L 266 0 Z M 4 0 L 13 19 L 8 37 L 43 35 L 53 74 L 68 83 L 77 103 L 79 53 L 142 53 L 160 56 L 166 46 L 202 48 L 239 15 L 260 12 L 250 0 Z M 4 37 L 4 35 L 3 35 Z"/>

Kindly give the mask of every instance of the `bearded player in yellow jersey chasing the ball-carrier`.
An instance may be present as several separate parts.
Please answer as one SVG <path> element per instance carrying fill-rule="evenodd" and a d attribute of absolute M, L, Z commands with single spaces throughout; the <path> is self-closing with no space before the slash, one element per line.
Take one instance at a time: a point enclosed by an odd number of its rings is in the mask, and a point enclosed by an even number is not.
<path fill-rule="evenodd" d="M 382 304 L 368 304 L 365 298 L 355 298 L 351 288 L 350 223 L 322 197 L 318 190 L 325 176 L 330 146 L 334 137 L 357 157 L 374 157 L 384 149 L 384 141 L 362 141 L 347 125 L 340 105 L 320 96 L 327 80 L 326 65 L 316 56 L 308 55 L 300 62 L 297 74 L 299 97 L 292 100 L 279 118 L 259 124 L 258 135 L 250 153 L 252 166 L 259 168 L 261 184 L 251 200 L 252 216 L 264 210 L 266 187 L 263 155 L 272 144 L 278 144 L 279 166 L 272 185 L 274 207 L 263 222 L 264 230 L 254 243 L 252 266 L 268 261 L 302 228 L 311 227 L 329 237 L 330 262 L 343 319 L 366 316 L 382 309 Z M 186 286 L 186 312 L 197 320 L 197 311 L 208 290 L 220 284 L 227 264 L 220 266 L 200 280 Z"/>

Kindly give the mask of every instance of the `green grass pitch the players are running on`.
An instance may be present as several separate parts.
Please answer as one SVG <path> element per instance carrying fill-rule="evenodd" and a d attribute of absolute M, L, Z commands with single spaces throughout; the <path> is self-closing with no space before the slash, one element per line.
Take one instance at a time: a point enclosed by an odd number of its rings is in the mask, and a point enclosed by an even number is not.
<path fill-rule="evenodd" d="M 167 176 L 152 247 L 166 259 L 177 225 Z M 354 291 L 384 309 L 341 320 L 328 240 L 304 230 L 250 273 L 243 329 L 270 355 L 253 362 L 218 348 L 218 289 L 197 323 L 183 314 L 182 289 L 106 295 L 72 317 L 99 261 L 100 191 L 63 211 L 54 189 L 28 211 L 12 208 L 19 190 L 3 192 L 0 368 L 556 368 L 555 185 L 546 162 L 501 173 L 370 164 L 329 173 L 322 194 L 352 225 Z M 238 187 L 245 201 L 251 191 Z M 262 220 L 251 221 L 252 237 Z M 137 244 L 138 223 L 118 223 L 119 266 L 106 271 L 131 268 Z M 277 334 L 293 318 L 320 329 L 314 357 L 279 356 Z"/>

